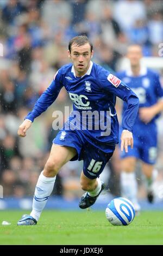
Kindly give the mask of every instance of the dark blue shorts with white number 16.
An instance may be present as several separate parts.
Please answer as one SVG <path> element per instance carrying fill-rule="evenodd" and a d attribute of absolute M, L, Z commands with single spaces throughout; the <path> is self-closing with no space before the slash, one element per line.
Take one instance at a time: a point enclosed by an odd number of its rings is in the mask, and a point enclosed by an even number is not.
<path fill-rule="evenodd" d="M 84 175 L 90 179 L 97 178 L 102 173 L 115 149 L 111 147 L 110 152 L 105 153 L 88 142 L 85 134 L 80 130 L 60 130 L 53 144 L 76 148 L 77 155 L 71 161 L 83 160 Z"/>

